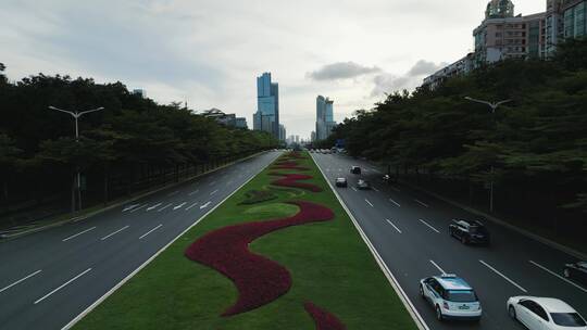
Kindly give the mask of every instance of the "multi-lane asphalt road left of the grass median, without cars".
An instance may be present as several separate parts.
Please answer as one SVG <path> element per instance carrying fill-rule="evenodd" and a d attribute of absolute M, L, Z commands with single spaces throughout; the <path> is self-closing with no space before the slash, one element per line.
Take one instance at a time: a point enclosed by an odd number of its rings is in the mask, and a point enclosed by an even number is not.
<path fill-rule="evenodd" d="M 63 328 L 279 154 L 1 242 L 0 329 Z"/>

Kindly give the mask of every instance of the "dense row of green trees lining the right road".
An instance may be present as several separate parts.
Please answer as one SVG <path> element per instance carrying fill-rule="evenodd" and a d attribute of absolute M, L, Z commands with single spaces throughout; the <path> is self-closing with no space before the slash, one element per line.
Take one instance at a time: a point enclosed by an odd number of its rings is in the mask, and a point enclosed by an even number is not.
<path fill-rule="evenodd" d="M 345 139 L 350 154 L 391 173 L 494 181 L 538 208 L 587 211 L 586 59 L 587 41 L 574 40 L 552 61 L 503 61 L 434 90 L 395 92 L 347 118 L 325 144 Z M 494 117 L 465 97 L 512 102 Z"/>

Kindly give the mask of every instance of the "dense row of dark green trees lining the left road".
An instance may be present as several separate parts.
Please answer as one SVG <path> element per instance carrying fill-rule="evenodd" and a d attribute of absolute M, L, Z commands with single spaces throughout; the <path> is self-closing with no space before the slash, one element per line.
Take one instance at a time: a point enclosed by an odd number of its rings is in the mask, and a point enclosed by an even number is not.
<path fill-rule="evenodd" d="M 88 194 L 110 186 L 132 189 L 154 176 L 195 172 L 214 162 L 275 148 L 265 132 L 225 127 L 179 103 L 160 105 L 121 82 L 39 74 L 10 82 L 0 64 L 0 204 L 39 201 L 73 192 L 74 174 L 86 174 Z M 49 110 L 103 106 L 79 120 Z M 200 166 L 200 167 L 198 167 Z"/>

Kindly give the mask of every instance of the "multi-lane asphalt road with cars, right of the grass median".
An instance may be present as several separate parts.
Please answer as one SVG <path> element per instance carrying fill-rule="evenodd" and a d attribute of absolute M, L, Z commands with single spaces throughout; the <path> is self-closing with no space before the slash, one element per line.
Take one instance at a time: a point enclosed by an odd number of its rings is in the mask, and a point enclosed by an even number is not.
<path fill-rule="evenodd" d="M 448 233 L 454 218 L 475 215 L 404 186 L 387 185 L 383 169 L 341 154 L 312 153 L 334 185 L 347 177 L 349 188 L 335 188 L 344 203 L 405 291 L 429 329 L 523 329 L 512 321 L 505 302 L 513 295 L 558 297 L 587 316 L 587 288 L 562 278 L 565 263 L 576 259 L 559 250 L 490 221 L 490 248 L 463 245 Z M 362 175 L 350 174 L 358 165 Z M 357 190 L 359 178 L 373 190 Z M 442 272 L 463 277 L 483 306 L 479 323 L 439 322 L 419 294 L 419 280 Z"/>

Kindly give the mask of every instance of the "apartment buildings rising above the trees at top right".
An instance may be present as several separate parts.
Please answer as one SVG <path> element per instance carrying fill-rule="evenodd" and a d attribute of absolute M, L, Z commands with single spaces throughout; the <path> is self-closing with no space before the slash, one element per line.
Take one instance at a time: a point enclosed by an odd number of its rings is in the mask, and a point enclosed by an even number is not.
<path fill-rule="evenodd" d="M 436 88 L 445 79 L 507 59 L 553 55 L 557 45 L 587 36 L 587 0 L 547 0 L 546 12 L 514 15 L 511 0 L 491 0 L 485 20 L 473 30 L 475 51 L 424 79 Z"/>

